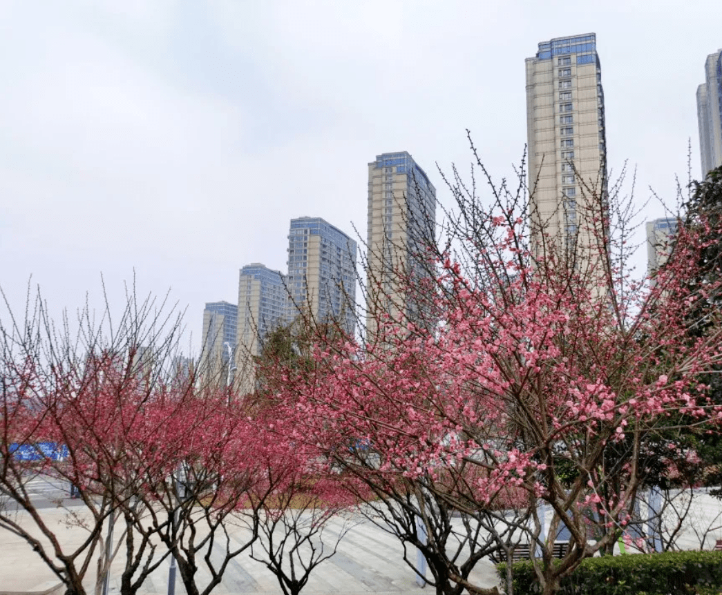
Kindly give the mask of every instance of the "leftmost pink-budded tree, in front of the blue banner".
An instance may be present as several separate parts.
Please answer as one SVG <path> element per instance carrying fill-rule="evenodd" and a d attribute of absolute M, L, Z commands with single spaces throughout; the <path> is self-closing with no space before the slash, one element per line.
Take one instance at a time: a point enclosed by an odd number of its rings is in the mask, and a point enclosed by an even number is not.
<path fill-rule="evenodd" d="M 173 312 L 158 317 L 160 304 L 133 298 L 115 326 L 108 324 L 108 312 L 96 322 L 86 307 L 71 332 L 69 319 L 60 328 L 53 324 L 40 294 L 28 301 L 24 320 L 6 312 L 0 325 L 0 486 L 9 500 L 0 526 L 25 539 L 67 593 L 84 594 L 94 557 L 96 591 L 105 578 L 103 526 L 137 485 L 134 472 L 120 472 L 126 431 L 142 417 L 158 379 L 146 366 L 152 358 L 141 361 L 139 346 L 155 348 L 147 356 L 172 353 L 178 319 Z M 116 479 L 105 481 L 111 475 Z M 82 508 L 67 508 L 66 520 L 86 531 L 79 545 L 64 542 L 43 514 L 30 489 L 35 479 L 74 486 Z M 63 498 L 58 503 L 67 504 Z M 125 537 L 132 543 L 131 534 Z M 143 560 L 147 545 L 127 552 L 129 564 Z M 151 571 L 162 557 L 147 557 L 142 569 Z"/>

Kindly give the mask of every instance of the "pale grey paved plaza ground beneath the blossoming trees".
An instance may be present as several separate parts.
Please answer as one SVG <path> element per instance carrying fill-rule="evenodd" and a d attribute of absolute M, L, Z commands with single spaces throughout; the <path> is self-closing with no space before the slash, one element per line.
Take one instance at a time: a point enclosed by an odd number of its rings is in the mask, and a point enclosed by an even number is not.
<path fill-rule="evenodd" d="M 66 501 L 67 502 L 67 501 Z M 60 541 L 67 545 L 79 543 L 87 533 L 77 526 L 66 523 L 69 511 L 81 511 L 75 508 L 57 508 L 48 506 L 41 511 L 48 524 L 56 527 Z M 716 539 L 722 539 L 722 502 L 712 498 L 703 491 L 695 495 L 688 516 L 688 523 L 677 542 L 679 549 L 699 550 L 700 542 L 706 535 L 705 550 L 711 550 Z M 22 524 L 27 521 L 26 513 L 17 513 Z M 666 519 L 672 526 L 674 519 Z M 329 537 L 333 541 L 334 534 L 342 531 L 341 520 L 331 521 Z M 119 526 L 118 526 L 119 529 Z M 233 539 L 243 542 L 244 529 L 236 529 Z M 116 540 L 118 539 L 116 532 Z M 122 552 L 121 552 L 122 553 Z M 404 550 L 396 537 L 384 532 L 368 520 L 357 519 L 352 523 L 349 532 L 339 545 L 334 557 L 322 563 L 313 571 L 303 593 L 321 595 L 336 594 L 423 594 L 432 592 L 417 586 L 414 571 L 403 560 Z M 409 557 L 415 559 L 415 550 L 409 551 Z M 0 532 L 0 595 L 4 594 L 48 594 L 58 585 L 57 579 L 40 561 L 38 555 L 19 537 L 8 531 Z M 165 562 L 150 576 L 140 589 L 140 594 L 166 594 L 168 592 L 168 568 Z M 123 560 L 118 559 L 111 570 L 110 594 L 120 592 L 120 573 Z M 94 573 L 90 572 L 87 591 L 92 593 Z M 472 581 L 480 586 L 498 584 L 494 565 L 489 560 L 482 560 L 474 573 Z M 199 583 L 205 584 L 209 575 L 199 570 Z M 58 590 L 58 595 L 63 592 Z M 183 584 L 176 579 L 175 592 L 185 594 Z M 222 583 L 213 591 L 218 595 L 230 594 L 280 594 L 282 593 L 275 576 L 261 563 L 251 560 L 248 552 L 243 552 L 229 565 Z"/>

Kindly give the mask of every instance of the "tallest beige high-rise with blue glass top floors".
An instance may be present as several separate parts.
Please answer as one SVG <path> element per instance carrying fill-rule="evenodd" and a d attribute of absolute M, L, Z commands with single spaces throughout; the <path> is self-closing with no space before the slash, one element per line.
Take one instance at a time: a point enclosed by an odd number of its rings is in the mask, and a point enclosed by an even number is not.
<path fill-rule="evenodd" d="M 565 250 L 589 245 L 592 207 L 606 200 L 606 135 L 596 35 L 539 43 L 526 58 L 533 249 L 542 232 Z"/>

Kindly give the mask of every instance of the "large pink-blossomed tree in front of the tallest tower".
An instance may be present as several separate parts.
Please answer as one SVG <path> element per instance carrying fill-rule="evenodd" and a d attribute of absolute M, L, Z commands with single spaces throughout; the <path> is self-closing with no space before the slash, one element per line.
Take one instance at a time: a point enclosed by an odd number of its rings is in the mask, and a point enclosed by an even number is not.
<path fill-rule="evenodd" d="M 456 172 L 449 181 L 457 206 L 444 243 L 429 237 L 417 255 L 435 275 L 406 285 L 422 307 L 377 314 L 365 344 L 322 345 L 316 369 L 288 371 L 278 398 L 292 402 L 295 439 L 392 508 L 401 498 L 379 486 L 413 495 L 427 524 L 427 494 L 473 516 L 518 490 L 529 522 L 498 521 L 523 533 L 551 594 L 627 534 L 654 439 L 680 420 L 718 425 L 698 378 L 721 359 L 720 332 L 690 335 L 692 312 L 716 309 L 718 289 L 687 282 L 704 244 L 693 229 L 680 231 L 655 283 L 632 280 L 618 188 L 583 187 L 569 239 L 536 217 L 525 180 L 487 181 L 486 205 Z M 513 549 L 490 523 L 475 526 L 479 542 Z M 552 565 L 562 526 L 569 548 Z M 449 568 L 438 593 L 493 592 Z"/>

